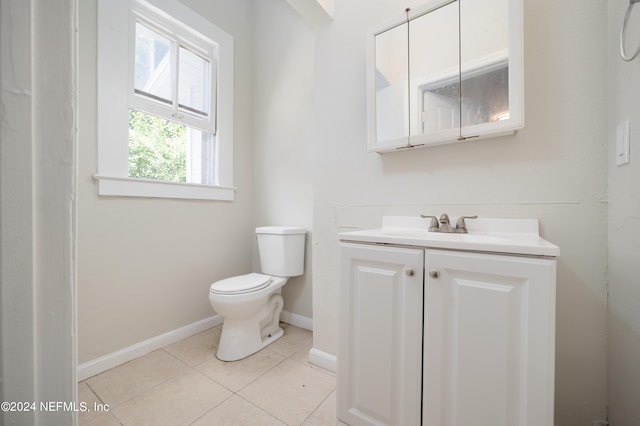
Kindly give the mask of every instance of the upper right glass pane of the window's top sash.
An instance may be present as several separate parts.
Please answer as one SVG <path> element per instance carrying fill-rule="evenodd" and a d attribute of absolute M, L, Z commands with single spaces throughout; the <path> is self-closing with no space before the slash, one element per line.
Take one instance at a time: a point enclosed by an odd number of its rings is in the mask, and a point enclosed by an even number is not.
<path fill-rule="evenodd" d="M 209 61 L 180 46 L 179 56 L 179 94 L 180 108 L 207 116 L 209 114 Z"/>

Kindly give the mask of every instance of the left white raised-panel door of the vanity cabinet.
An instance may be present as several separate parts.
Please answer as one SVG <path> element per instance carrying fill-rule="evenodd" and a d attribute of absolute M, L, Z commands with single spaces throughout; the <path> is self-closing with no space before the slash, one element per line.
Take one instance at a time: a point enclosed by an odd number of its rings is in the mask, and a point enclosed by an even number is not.
<path fill-rule="evenodd" d="M 424 250 L 341 244 L 337 417 L 419 425 Z"/>

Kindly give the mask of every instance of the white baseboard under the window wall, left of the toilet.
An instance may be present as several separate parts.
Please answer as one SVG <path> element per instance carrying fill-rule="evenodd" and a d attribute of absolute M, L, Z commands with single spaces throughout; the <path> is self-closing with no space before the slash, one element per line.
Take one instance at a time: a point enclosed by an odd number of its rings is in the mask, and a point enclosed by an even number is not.
<path fill-rule="evenodd" d="M 100 374 L 103 371 L 107 371 L 113 367 L 117 367 L 120 364 L 124 364 L 127 361 L 139 358 L 149 352 L 160 349 L 163 346 L 170 345 L 179 340 L 185 339 L 201 331 L 207 330 L 211 327 L 222 324 L 222 317 L 220 315 L 214 315 L 209 318 L 194 322 L 176 330 L 169 331 L 161 334 L 160 336 L 152 337 L 119 351 L 112 352 L 110 354 L 101 356 L 99 358 L 87 361 L 78 366 L 77 375 L 78 381 L 88 379 L 96 374 Z M 294 324 L 295 325 L 295 324 Z"/>

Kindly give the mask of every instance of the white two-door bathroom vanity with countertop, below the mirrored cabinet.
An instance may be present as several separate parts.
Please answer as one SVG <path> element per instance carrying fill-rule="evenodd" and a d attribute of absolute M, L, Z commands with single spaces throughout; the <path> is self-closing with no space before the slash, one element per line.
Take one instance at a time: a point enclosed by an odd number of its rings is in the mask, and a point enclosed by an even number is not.
<path fill-rule="evenodd" d="M 340 234 L 338 424 L 552 426 L 559 250 L 429 234 Z"/>

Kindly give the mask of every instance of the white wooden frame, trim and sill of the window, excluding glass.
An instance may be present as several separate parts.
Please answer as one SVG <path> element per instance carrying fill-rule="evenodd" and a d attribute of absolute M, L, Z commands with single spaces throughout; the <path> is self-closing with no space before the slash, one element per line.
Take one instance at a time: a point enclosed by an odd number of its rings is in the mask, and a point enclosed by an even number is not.
<path fill-rule="evenodd" d="M 131 31 L 134 13 L 155 26 L 178 33 L 187 47 L 213 46 L 211 64 L 215 85 L 209 117 L 215 132 L 215 184 L 180 183 L 129 177 L 129 108 L 133 96 Z M 134 22 L 132 23 L 132 20 Z M 217 56 L 217 58 L 216 58 Z M 136 108 L 137 109 L 137 108 Z M 154 114 L 153 111 L 145 110 Z M 187 114 L 185 114 L 186 116 Z M 207 130 L 202 123 L 184 120 Z M 188 122 L 187 122 L 188 121 Z M 157 198 L 232 201 L 233 186 L 233 38 L 175 0 L 98 1 L 98 194 Z"/>

